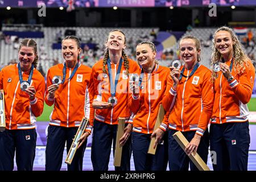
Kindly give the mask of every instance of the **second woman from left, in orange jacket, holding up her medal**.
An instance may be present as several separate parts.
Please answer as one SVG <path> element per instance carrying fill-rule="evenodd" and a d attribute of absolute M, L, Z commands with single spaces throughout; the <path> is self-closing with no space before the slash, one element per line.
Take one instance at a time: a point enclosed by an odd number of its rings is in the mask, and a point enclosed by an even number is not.
<path fill-rule="evenodd" d="M 67 36 L 61 43 L 64 63 L 54 65 L 47 73 L 47 92 L 44 100 L 51 106 L 46 145 L 46 170 L 59 171 L 63 159 L 63 151 L 67 142 L 67 153 L 81 119 L 89 119 L 89 125 L 83 135 L 84 143 L 77 149 L 76 155 L 68 170 L 82 171 L 82 160 L 86 148 L 86 138 L 93 125 L 94 110 L 90 88 L 92 69 L 79 61 L 81 53 L 79 39 Z"/>

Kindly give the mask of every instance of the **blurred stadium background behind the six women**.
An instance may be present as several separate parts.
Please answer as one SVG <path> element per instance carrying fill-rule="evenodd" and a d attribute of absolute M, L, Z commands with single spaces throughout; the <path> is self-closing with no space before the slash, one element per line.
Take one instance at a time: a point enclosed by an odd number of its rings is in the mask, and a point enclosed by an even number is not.
<path fill-rule="evenodd" d="M 210 67 L 212 34 L 217 27 L 230 26 L 240 37 L 247 55 L 255 62 L 255 0 L 0 0 L 0 69 L 17 63 L 19 42 L 33 38 L 38 43 L 39 71 L 46 75 L 52 65 L 62 63 L 61 39 L 76 35 L 82 43 L 81 61 L 92 67 L 102 56 L 108 32 L 114 28 L 126 34 L 127 55 L 135 60 L 138 42 L 154 42 L 161 65 L 179 59 L 179 40 L 194 35 L 201 40 L 201 64 Z M 209 7 L 210 3 L 214 3 Z M 216 6 L 215 6 L 216 5 Z M 216 16 L 214 16 L 214 14 Z M 212 16 L 213 15 L 213 16 Z M 255 81 L 256 84 L 256 81 Z M 249 170 L 256 170 L 256 86 L 248 104 L 250 110 Z M 44 106 L 38 118 L 38 140 L 34 170 L 44 170 L 47 126 L 52 107 Z M 91 139 L 85 151 L 84 170 L 92 170 Z M 64 152 L 62 170 L 66 152 Z M 210 159 L 208 166 L 212 169 Z M 113 170 L 113 158 L 109 169 Z M 131 169 L 134 170 L 133 159 Z"/>

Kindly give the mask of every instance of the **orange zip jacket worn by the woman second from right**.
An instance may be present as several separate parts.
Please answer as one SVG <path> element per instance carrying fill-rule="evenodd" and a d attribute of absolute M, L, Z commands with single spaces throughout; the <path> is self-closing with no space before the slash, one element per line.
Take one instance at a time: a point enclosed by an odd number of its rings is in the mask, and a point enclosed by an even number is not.
<path fill-rule="evenodd" d="M 192 69 L 185 69 L 183 74 L 189 76 L 191 72 Z M 168 77 L 163 107 L 165 110 L 171 109 L 169 122 L 164 121 L 166 126 L 169 124 L 169 129 L 196 130 L 196 134 L 203 136 L 212 114 L 214 100 L 210 74 L 211 72 L 207 67 L 200 65 L 190 78 L 181 78 L 177 90 L 172 88 L 171 76 Z M 160 129 L 166 131 L 167 127 L 162 124 Z"/>

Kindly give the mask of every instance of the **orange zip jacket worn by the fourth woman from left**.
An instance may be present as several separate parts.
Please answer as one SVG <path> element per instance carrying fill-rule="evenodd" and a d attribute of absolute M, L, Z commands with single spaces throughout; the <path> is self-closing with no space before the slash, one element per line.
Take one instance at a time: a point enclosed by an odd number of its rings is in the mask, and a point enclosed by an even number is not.
<path fill-rule="evenodd" d="M 164 92 L 167 86 L 167 77 L 170 75 L 170 69 L 155 65 L 152 73 L 143 73 L 139 96 L 129 100 L 130 110 L 134 113 L 133 131 L 144 134 L 151 134 L 154 131 L 158 109 L 162 104 Z M 168 122 L 168 112 L 165 119 Z M 167 126 L 162 123 L 163 126 Z"/>

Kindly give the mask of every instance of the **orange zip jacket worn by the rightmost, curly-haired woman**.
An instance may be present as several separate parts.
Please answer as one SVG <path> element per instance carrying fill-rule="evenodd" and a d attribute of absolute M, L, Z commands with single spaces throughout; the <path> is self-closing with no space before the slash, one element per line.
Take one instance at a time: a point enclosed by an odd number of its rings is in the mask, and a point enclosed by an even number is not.
<path fill-rule="evenodd" d="M 245 72 L 238 75 L 232 69 L 234 79 L 226 80 L 222 72 L 214 81 L 213 89 L 215 100 L 212 112 L 212 124 L 229 122 L 246 122 L 249 110 L 247 103 L 250 101 L 253 92 L 255 69 L 251 61 L 248 61 L 249 68 L 245 65 Z M 226 62 L 230 65 L 231 60 Z M 234 64 L 233 64 L 234 67 Z"/>

